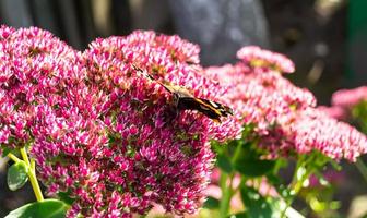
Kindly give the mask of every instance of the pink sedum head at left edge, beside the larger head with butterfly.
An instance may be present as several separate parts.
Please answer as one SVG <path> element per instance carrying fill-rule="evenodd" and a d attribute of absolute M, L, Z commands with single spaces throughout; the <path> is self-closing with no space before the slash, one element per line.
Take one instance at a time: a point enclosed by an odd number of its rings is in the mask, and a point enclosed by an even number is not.
<path fill-rule="evenodd" d="M 37 107 L 56 106 L 66 83 L 79 80 L 78 69 L 72 68 L 78 56 L 46 31 L 1 26 L 0 143 L 3 147 L 23 147 L 34 141 Z"/>

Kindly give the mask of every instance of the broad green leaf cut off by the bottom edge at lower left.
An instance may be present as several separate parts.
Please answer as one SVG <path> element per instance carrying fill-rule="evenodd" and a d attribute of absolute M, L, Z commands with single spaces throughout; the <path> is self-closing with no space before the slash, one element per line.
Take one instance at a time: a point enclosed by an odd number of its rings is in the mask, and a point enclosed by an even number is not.
<path fill-rule="evenodd" d="M 64 218 L 68 206 L 58 199 L 45 199 L 26 204 L 11 213 L 5 218 Z"/>

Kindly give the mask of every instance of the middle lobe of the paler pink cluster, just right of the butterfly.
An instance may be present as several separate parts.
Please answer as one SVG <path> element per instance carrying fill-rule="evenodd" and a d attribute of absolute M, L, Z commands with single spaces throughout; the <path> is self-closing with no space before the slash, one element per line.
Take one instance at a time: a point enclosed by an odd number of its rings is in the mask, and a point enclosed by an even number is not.
<path fill-rule="evenodd" d="M 205 74 L 230 87 L 223 99 L 237 111 L 238 120 L 246 125 L 254 124 L 259 134 L 268 134 L 294 110 L 316 105 L 311 93 L 294 86 L 273 71 L 253 73 L 238 63 L 209 68 Z"/>

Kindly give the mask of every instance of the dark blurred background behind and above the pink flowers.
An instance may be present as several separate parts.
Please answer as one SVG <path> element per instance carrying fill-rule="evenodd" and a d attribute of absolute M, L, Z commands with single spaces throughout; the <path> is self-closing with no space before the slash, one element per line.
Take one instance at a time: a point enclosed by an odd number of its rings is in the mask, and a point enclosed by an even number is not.
<path fill-rule="evenodd" d="M 259 45 L 288 56 L 297 69 L 288 78 L 328 105 L 334 90 L 367 84 L 366 10 L 366 0 L 0 0 L 0 23 L 48 29 L 79 50 L 134 29 L 178 34 L 200 45 L 203 65 L 234 63 L 240 47 Z M 4 162 L 0 217 L 33 201 L 29 187 L 10 193 Z M 347 173 L 362 181 L 354 168 Z M 344 214 L 352 196 L 367 192 L 345 185 Z"/>

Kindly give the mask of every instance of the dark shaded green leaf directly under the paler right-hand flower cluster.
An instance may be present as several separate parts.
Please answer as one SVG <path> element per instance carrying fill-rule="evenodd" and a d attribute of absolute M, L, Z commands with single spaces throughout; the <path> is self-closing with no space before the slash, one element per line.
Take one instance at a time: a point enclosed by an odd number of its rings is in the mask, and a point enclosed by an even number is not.
<path fill-rule="evenodd" d="M 235 169 L 246 177 L 261 177 L 271 171 L 275 166 L 273 160 L 238 158 Z"/>

